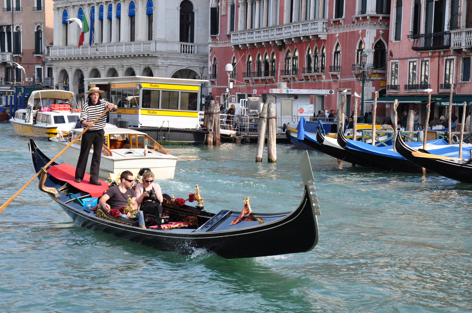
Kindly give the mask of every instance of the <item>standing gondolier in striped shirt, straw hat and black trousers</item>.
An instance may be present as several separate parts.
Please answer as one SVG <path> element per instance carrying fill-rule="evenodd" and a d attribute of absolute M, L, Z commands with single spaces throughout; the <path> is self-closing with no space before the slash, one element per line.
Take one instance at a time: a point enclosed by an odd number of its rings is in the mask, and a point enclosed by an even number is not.
<path fill-rule="evenodd" d="M 101 185 L 98 181 L 98 172 L 100 168 L 101 148 L 105 140 L 103 128 L 105 127 L 107 116 L 103 115 L 97 123 L 93 121 L 108 108 L 111 111 L 118 111 L 118 107 L 106 100 L 99 99 L 103 91 L 98 87 L 92 87 L 86 93 L 90 95 L 87 103 L 82 108 L 79 123 L 89 130 L 82 135 L 82 143 L 80 145 L 80 155 L 76 166 L 76 182 L 84 179 L 85 167 L 87 166 L 88 155 L 93 144 L 93 156 L 90 163 L 90 184 Z"/>

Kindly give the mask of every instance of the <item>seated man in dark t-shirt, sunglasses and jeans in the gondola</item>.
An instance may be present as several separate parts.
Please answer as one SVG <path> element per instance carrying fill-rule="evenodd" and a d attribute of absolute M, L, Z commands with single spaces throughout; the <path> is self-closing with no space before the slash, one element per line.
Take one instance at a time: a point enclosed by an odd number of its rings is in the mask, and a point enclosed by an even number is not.
<path fill-rule="evenodd" d="M 120 184 L 118 186 L 110 187 L 103 196 L 100 198 L 100 205 L 105 209 L 116 209 L 119 210 L 120 206 L 126 206 L 128 204 L 128 196 L 133 202 L 133 207 L 136 209 L 138 203 L 136 202 L 136 194 L 133 189 L 130 189 L 133 186 L 133 173 L 130 171 L 124 171 L 120 175 Z M 128 218 L 130 216 L 129 212 L 127 214 L 120 214 L 121 217 Z M 137 211 L 136 217 L 138 218 L 139 227 L 146 228 L 144 224 L 144 215 L 143 211 Z"/>

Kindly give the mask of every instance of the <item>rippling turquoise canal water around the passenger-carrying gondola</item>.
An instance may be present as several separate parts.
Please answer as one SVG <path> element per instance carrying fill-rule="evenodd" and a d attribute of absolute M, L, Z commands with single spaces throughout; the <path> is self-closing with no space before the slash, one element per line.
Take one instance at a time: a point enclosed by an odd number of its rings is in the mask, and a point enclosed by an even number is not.
<path fill-rule="evenodd" d="M 3 203 L 32 175 L 27 139 L 0 124 Z M 38 141 L 54 156 L 51 142 Z M 164 192 L 199 184 L 211 212 L 285 212 L 300 201 L 303 150 L 169 147 Z M 0 214 L 0 312 L 470 312 L 472 185 L 371 171 L 310 151 L 320 241 L 308 253 L 226 260 L 160 252 L 77 226 L 32 183 Z M 266 154 L 265 154 L 266 156 Z M 264 245 L 264 242 L 247 242 Z"/>

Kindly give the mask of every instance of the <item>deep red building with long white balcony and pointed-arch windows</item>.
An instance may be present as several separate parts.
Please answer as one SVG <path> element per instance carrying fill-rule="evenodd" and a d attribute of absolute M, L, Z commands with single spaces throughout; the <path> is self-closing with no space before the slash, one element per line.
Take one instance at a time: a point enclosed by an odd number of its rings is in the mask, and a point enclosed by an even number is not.
<path fill-rule="evenodd" d="M 336 112 L 347 89 L 347 112 L 353 110 L 354 92 L 362 93 L 353 66 L 367 54 L 374 67 L 365 82 L 365 99 L 374 91 L 384 95 L 390 38 L 390 0 L 212 0 L 209 42 L 210 91 L 225 102 L 228 74 L 234 66 L 229 102 L 247 97 L 261 102 L 292 99 Z M 332 90 L 326 95 L 268 93 L 287 83 L 289 90 Z M 280 89 L 279 89 L 280 90 Z M 371 109 L 366 103 L 364 111 Z M 384 115 L 385 108 L 378 115 Z M 292 110 L 292 116 L 296 116 Z M 350 114 L 349 114 L 350 115 Z M 357 115 L 361 115 L 361 106 Z"/>

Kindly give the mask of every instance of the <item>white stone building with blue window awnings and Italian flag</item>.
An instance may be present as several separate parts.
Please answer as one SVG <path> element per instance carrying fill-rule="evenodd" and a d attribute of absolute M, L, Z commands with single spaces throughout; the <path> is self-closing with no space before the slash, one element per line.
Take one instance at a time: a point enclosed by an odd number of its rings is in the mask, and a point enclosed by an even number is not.
<path fill-rule="evenodd" d="M 208 75 L 208 0 L 54 0 L 54 41 L 46 63 L 54 80 L 83 97 L 84 78 Z M 80 28 L 68 18 L 87 17 L 89 34 L 78 47 Z M 92 17 L 91 17 L 92 16 Z"/>

